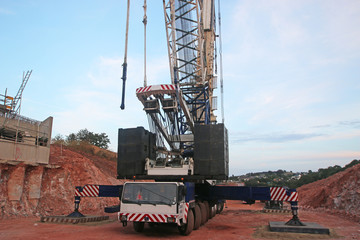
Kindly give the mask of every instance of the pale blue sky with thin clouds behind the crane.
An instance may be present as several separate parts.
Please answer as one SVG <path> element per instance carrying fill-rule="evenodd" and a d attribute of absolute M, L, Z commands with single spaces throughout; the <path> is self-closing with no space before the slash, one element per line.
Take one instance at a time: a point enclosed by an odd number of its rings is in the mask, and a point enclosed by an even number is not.
<path fill-rule="evenodd" d="M 170 83 L 162 1 L 147 2 L 148 84 Z M 53 136 L 104 132 L 116 151 L 118 128 L 148 129 L 135 95 L 142 5 L 131 1 L 125 110 L 125 0 L 0 0 L 0 93 L 15 96 L 33 70 L 22 115 L 54 117 Z M 360 158 L 359 26 L 357 0 L 221 1 L 230 175 Z"/>

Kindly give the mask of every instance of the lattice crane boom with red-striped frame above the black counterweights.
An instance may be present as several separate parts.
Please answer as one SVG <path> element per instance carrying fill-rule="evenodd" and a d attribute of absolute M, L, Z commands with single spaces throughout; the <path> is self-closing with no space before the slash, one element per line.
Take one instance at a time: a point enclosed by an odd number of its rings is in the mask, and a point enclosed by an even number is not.
<path fill-rule="evenodd" d="M 216 123 L 213 0 L 163 0 L 171 84 L 136 90 L 160 147 L 193 148 L 194 126 Z M 185 140 L 186 139 L 186 140 Z"/>

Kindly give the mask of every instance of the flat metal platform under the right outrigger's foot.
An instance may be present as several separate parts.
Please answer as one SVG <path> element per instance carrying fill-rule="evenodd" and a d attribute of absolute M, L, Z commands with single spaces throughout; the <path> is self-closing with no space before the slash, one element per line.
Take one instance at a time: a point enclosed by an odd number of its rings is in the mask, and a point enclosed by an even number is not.
<path fill-rule="evenodd" d="M 313 233 L 313 234 L 330 234 L 328 228 L 317 223 L 307 222 L 305 226 L 290 226 L 286 222 L 269 222 L 270 231 L 272 232 L 292 232 L 292 233 Z"/>

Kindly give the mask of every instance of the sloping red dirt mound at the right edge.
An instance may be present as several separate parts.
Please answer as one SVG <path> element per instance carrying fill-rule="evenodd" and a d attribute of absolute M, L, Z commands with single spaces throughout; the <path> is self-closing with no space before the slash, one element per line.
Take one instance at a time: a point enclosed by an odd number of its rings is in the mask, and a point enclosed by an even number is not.
<path fill-rule="evenodd" d="M 304 208 L 325 209 L 360 220 L 360 164 L 298 188 Z"/>

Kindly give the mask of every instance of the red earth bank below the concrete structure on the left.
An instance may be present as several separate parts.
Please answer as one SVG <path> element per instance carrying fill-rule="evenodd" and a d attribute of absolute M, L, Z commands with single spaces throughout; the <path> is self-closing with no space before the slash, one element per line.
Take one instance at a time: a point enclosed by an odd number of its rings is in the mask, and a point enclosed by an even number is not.
<path fill-rule="evenodd" d="M 0 218 L 69 214 L 75 186 L 122 184 L 116 179 L 116 162 L 85 155 L 52 145 L 49 166 L 1 164 Z M 103 214 L 105 206 L 118 203 L 116 198 L 82 198 L 80 212 Z"/>

